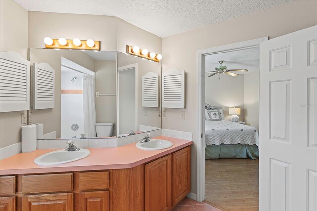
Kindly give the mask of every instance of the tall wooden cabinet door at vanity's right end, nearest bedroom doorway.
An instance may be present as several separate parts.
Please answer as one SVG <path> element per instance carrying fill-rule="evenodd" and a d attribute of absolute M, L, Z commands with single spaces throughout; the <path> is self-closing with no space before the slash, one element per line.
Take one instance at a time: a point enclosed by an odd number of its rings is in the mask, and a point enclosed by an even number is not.
<path fill-rule="evenodd" d="M 173 206 L 190 192 L 190 147 L 173 153 Z"/>

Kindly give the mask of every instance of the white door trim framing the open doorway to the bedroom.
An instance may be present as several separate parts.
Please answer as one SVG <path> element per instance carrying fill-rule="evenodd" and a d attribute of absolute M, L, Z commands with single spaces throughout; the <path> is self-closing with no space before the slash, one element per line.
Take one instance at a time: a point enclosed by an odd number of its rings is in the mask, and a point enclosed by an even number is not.
<path fill-rule="evenodd" d="M 250 49 L 259 47 L 261 42 L 268 40 L 268 37 L 258 38 L 254 40 L 247 40 L 238 43 L 232 43 L 223 46 L 217 46 L 208 49 L 197 51 L 197 193 L 196 200 L 202 202 L 205 199 L 205 124 L 204 119 L 204 105 L 205 105 L 205 56 L 217 53 L 232 52 L 243 49 Z M 259 96 L 260 98 L 260 96 Z"/>

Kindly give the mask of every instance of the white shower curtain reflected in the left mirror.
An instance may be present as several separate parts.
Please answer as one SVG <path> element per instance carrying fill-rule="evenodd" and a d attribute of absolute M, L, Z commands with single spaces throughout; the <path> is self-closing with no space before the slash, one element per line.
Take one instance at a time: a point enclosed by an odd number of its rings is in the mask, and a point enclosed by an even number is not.
<path fill-rule="evenodd" d="M 96 137 L 95 77 L 84 75 L 84 131 L 86 137 Z"/>

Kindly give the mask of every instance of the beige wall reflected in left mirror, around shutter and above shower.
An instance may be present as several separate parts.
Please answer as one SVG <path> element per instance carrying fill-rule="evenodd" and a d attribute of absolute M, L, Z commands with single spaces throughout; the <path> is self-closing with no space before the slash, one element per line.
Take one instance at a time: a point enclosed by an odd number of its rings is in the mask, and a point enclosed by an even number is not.
<path fill-rule="evenodd" d="M 43 123 L 44 134 L 56 131 L 60 137 L 60 101 L 61 101 L 61 57 L 71 60 L 91 71 L 95 70 L 95 60 L 82 51 L 30 49 L 30 63 L 48 63 L 55 70 L 55 107 L 52 109 L 33 110 L 32 123 Z"/>

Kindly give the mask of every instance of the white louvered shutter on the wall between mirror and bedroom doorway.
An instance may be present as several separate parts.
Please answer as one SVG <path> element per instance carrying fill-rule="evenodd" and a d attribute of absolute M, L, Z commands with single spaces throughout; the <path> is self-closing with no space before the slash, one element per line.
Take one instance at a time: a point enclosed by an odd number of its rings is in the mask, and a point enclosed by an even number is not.
<path fill-rule="evenodd" d="M 185 108 L 185 72 L 170 69 L 162 74 L 162 107 Z"/>

